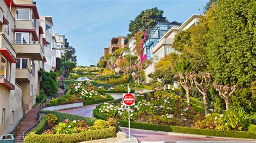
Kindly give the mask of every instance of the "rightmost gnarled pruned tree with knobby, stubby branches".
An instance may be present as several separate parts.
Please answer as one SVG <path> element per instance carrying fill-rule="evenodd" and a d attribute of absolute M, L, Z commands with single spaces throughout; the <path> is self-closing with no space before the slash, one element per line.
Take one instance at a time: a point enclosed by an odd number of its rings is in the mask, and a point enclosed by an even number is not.
<path fill-rule="evenodd" d="M 226 103 L 226 110 L 228 111 L 230 109 L 230 97 L 236 89 L 235 85 L 230 87 L 228 85 L 219 85 L 216 82 L 214 82 L 213 88 L 217 90 L 219 92 L 220 97 L 224 99 Z"/>

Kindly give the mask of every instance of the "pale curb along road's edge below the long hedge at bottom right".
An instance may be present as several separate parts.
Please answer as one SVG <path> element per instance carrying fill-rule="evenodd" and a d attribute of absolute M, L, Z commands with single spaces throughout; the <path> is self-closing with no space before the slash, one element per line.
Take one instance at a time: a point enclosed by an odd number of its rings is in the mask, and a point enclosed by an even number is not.
<path fill-rule="evenodd" d="M 126 130 L 129 130 L 127 127 L 120 127 L 121 129 L 124 128 Z M 233 140 L 248 140 L 248 141 L 256 141 L 254 139 L 244 139 L 244 138 L 228 138 L 228 137 L 215 137 L 215 136 L 210 136 L 210 135 L 198 135 L 198 134 L 186 134 L 186 133 L 174 133 L 174 132 L 164 132 L 164 131 L 152 131 L 152 130 L 142 130 L 138 128 L 131 128 L 131 130 L 134 131 L 141 131 L 141 132 L 151 132 L 151 133 L 161 133 L 161 134 L 166 134 L 166 135 L 179 135 L 179 136 L 186 136 L 186 137 L 198 137 L 198 138 L 217 138 L 217 139 L 233 139 Z"/>

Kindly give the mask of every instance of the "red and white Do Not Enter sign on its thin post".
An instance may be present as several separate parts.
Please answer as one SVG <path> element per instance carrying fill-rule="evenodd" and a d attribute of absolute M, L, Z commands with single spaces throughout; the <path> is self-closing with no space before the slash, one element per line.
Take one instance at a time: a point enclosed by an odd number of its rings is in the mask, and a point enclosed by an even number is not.
<path fill-rule="evenodd" d="M 129 140 L 130 140 L 130 106 L 134 105 L 135 98 L 134 94 L 129 94 L 130 92 L 129 84 L 128 84 L 128 94 L 123 95 L 123 103 L 128 106 L 128 126 L 129 126 Z"/>

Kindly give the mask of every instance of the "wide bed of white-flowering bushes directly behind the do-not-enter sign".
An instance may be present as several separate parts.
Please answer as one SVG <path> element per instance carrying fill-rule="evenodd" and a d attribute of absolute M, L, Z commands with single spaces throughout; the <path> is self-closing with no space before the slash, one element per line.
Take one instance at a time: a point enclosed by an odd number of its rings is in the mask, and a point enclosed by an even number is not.
<path fill-rule="evenodd" d="M 161 92 L 165 93 L 165 91 Z M 191 126 L 202 116 L 192 108 L 186 108 L 182 99 L 175 94 L 156 92 L 153 96 L 157 98 L 136 97 L 135 105 L 130 107 L 131 120 L 152 124 Z M 128 106 L 123 102 L 104 103 L 100 106 L 99 112 L 105 117 L 128 119 Z"/>

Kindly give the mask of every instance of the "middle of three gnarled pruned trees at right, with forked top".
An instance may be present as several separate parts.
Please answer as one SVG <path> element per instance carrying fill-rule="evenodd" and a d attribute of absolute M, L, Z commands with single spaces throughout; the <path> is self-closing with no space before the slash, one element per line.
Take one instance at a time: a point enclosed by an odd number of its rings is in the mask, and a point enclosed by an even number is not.
<path fill-rule="evenodd" d="M 207 91 L 208 91 L 208 88 L 211 83 L 211 74 L 208 72 L 202 73 L 200 76 L 200 78 L 201 78 L 200 83 L 199 83 L 200 80 L 198 80 L 196 73 L 191 73 L 190 78 L 196 85 L 197 90 L 203 95 L 203 101 L 204 101 L 204 106 L 205 106 L 205 115 L 207 115 L 209 113 L 208 102 L 207 102 Z"/>

